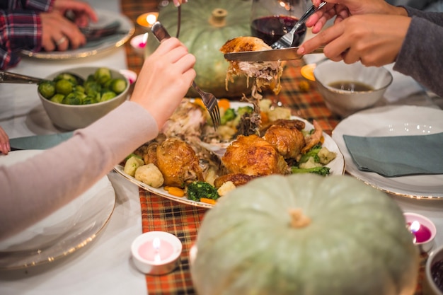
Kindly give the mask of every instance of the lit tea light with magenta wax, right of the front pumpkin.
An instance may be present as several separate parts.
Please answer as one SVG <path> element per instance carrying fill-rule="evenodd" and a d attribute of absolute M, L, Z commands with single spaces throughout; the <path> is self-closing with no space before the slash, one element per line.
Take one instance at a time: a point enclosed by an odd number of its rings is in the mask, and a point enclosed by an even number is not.
<path fill-rule="evenodd" d="M 413 234 L 413 241 L 422 253 L 432 249 L 437 229 L 435 224 L 425 216 L 415 213 L 404 213 L 406 226 Z"/>

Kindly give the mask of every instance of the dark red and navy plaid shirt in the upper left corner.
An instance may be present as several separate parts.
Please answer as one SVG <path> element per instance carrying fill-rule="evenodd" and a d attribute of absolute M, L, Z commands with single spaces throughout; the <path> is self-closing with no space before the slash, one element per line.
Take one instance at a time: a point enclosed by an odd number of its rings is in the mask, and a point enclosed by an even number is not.
<path fill-rule="evenodd" d="M 23 49 L 39 51 L 42 24 L 39 13 L 49 11 L 54 0 L 0 0 L 0 69 L 20 61 Z"/>

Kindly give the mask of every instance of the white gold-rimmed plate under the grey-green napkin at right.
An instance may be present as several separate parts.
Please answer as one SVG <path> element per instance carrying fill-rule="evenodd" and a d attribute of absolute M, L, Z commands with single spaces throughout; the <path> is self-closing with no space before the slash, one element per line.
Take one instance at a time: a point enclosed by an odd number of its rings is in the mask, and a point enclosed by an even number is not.
<path fill-rule="evenodd" d="M 443 175 L 410 175 L 385 178 L 358 170 L 347 151 L 343 135 L 388 137 L 443 132 L 443 110 L 413 105 L 392 105 L 357 112 L 333 130 L 333 139 L 345 157 L 346 171 L 368 185 L 393 195 L 415 199 L 442 199 Z"/>

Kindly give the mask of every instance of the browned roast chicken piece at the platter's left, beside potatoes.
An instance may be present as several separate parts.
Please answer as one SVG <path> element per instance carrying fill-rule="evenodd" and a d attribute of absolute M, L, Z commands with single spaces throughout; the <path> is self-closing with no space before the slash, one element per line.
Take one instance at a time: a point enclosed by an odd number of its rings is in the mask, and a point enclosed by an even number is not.
<path fill-rule="evenodd" d="M 170 137 L 157 146 L 156 154 L 165 185 L 184 187 L 185 183 L 203 180 L 199 159 L 185 141 Z"/>

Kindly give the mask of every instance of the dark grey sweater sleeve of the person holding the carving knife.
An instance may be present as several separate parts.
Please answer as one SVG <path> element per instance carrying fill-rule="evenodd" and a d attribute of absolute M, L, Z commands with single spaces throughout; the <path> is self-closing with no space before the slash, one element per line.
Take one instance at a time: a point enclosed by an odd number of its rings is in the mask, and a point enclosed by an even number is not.
<path fill-rule="evenodd" d="M 443 96 L 443 13 L 406 10 L 412 21 L 393 69 Z"/>

